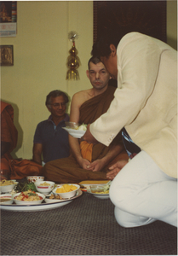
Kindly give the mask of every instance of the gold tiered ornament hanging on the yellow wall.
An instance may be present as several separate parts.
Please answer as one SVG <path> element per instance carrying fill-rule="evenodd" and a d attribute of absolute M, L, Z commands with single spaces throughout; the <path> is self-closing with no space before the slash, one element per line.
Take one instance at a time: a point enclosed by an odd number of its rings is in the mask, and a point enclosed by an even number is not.
<path fill-rule="evenodd" d="M 66 73 L 66 80 L 79 79 L 78 67 L 80 66 L 80 59 L 78 58 L 78 49 L 75 47 L 75 39 L 78 39 L 78 33 L 71 31 L 68 33 L 69 40 L 72 41 L 72 49 L 69 50 L 70 55 L 67 58 L 66 66 L 69 70 Z"/>

